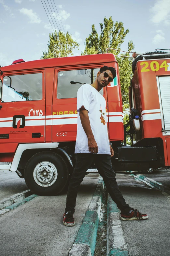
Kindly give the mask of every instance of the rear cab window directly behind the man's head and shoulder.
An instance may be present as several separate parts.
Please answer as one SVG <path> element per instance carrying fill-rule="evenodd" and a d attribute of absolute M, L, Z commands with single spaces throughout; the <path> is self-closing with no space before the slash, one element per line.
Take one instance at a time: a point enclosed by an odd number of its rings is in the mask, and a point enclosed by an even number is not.
<path fill-rule="evenodd" d="M 100 68 L 79 69 L 58 72 L 57 98 L 77 98 L 82 84 L 92 84 Z M 103 89 L 100 91 L 103 95 Z"/>

